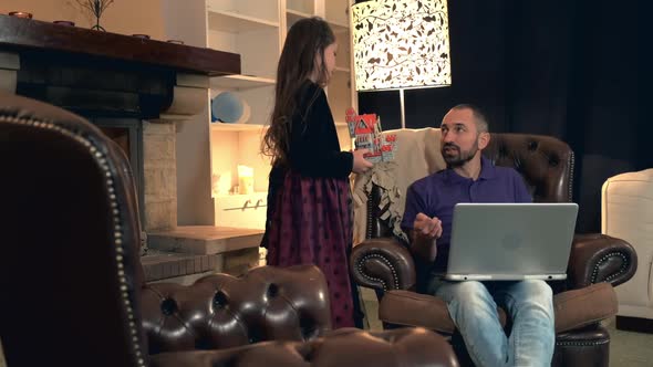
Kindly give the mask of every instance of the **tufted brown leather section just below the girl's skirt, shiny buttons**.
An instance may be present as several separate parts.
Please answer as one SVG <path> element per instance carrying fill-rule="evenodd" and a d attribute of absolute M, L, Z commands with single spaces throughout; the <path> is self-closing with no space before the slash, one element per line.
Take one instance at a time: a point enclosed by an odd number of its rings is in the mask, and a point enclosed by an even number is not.
<path fill-rule="evenodd" d="M 256 268 L 190 286 L 143 289 L 149 353 L 221 349 L 263 340 L 309 340 L 331 329 L 326 281 L 317 266 Z"/>

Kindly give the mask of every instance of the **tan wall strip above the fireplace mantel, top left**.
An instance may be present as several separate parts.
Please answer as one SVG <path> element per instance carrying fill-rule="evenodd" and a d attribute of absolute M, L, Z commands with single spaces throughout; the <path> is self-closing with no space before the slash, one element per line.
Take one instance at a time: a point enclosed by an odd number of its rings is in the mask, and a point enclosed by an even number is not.
<path fill-rule="evenodd" d="M 100 19 L 107 32 L 121 34 L 144 33 L 155 40 L 164 40 L 162 0 L 115 0 Z M 70 20 L 75 25 L 91 28 L 95 18 L 80 10 L 75 0 L 2 0 L 0 13 L 20 10 L 33 14 L 33 19 L 51 22 Z"/>

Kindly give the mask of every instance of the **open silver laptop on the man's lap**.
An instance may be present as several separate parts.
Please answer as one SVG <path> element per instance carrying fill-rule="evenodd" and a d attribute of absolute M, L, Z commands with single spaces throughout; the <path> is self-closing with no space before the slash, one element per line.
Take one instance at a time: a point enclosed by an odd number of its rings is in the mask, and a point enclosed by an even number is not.
<path fill-rule="evenodd" d="M 578 205 L 458 203 L 446 280 L 563 280 Z"/>

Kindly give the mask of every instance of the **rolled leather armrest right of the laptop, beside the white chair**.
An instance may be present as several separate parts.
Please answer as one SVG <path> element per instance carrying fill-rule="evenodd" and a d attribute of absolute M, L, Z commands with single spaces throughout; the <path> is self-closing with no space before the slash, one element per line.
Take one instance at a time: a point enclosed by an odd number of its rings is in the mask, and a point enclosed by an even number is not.
<path fill-rule="evenodd" d="M 608 282 L 613 286 L 630 280 L 638 270 L 634 248 L 605 234 L 577 234 L 567 269 L 569 289 Z"/>

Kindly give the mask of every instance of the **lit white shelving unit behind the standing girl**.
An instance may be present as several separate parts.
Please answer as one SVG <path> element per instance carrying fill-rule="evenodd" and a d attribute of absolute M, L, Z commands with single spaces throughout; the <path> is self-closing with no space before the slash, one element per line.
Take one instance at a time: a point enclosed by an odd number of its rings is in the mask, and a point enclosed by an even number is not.
<path fill-rule="evenodd" d="M 214 77 L 210 82 L 210 97 L 225 91 L 237 94 L 249 106 L 250 118 L 242 124 L 210 124 L 211 174 L 231 176 L 232 186 L 238 185 L 238 165 L 253 168 L 255 193 L 260 199 L 268 189 L 270 164 L 259 154 L 261 138 L 273 107 L 277 62 L 288 29 L 298 20 L 318 15 L 332 27 L 339 42 L 336 70 L 326 88 L 329 104 L 336 122 L 342 149 L 351 148 L 344 113 L 357 106 L 356 94 L 351 81 L 351 36 L 349 9 L 351 0 L 206 0 L 206 46 L 240 54 L 241 75 Z M 210 105 L 208 108 L 210 119 Z M 249 200 L 249 196 L 226 198 L 224 192 L 214 191 L 216 226 L 234 227 L 234 218 L 221 220 L 218 208 L 225 200 Z M 258 201 L 255 200 L 256 201 Z M 230 203 L 239 207 L 239 203 Z M 251 206 L 248 228 L 262 228 L 265 210 Z M 258 211 L 255 211 L 258 209 Z M 221 210 L 221 209 L 220 209 Z M 238 224 L 238 223 L 236 223 Z"/>

